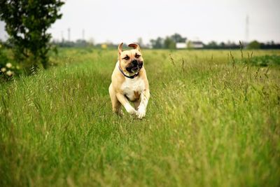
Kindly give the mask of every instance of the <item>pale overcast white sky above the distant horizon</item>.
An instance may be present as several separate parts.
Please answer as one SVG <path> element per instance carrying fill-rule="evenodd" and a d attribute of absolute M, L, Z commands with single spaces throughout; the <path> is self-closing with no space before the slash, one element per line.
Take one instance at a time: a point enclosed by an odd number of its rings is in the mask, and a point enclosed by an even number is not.
<path fill-rule="evenodd" d="M 280 42 L 279 0 L 66 0 L 62 19 L 48 30 L 53 39 L 94 43 L 148 43 L 179 33 L 190 40 Z M 7 37 L 0 23 L 0 38 Z"/>

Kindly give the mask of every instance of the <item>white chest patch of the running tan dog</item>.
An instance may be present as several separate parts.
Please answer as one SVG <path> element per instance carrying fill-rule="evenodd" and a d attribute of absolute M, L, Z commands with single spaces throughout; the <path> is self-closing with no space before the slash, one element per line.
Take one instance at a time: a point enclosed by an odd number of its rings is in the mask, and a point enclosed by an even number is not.
<path fill-rule="evenodd" d="M 125 78 L 125 82 L 121 86 L 123 94 L 130 100 L 139 99 L 141 92 L 145 90 L 145 83 L 142 78 Z"/>

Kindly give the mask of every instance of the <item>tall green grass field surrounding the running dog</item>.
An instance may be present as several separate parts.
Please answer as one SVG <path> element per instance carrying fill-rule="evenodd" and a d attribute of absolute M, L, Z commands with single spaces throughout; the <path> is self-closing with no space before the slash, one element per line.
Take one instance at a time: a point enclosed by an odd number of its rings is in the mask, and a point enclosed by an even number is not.
<path fill-rule="evenodd" d="M 231 53 L 144 50 L 137 120 L 111 112 L 117 50 L 60 49 L 0 85 L 0 186 L 280 186 L 280 66 Z"/>

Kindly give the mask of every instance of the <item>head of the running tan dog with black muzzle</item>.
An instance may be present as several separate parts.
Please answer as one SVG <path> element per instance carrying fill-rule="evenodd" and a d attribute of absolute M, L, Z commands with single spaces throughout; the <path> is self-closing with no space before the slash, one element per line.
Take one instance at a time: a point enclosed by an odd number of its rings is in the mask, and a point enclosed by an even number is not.
<path fill-rule="evenodd" d="M 131 43 L 128 45 L 132 50 L 123 50 L 123 43 L 118 46 L 118 60 L 120 68 L 130 75 L 137 74 L 141 67 L 143 67 L 143 57 L 140 51 L 140 47 Z"/>

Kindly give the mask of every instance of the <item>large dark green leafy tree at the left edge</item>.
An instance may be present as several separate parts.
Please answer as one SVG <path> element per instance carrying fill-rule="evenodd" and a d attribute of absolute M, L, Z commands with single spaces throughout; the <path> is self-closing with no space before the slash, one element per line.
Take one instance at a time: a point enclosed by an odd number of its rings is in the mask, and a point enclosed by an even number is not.
<path fill-rule="evenodd" d="M 25 67 L 48 67 L 51 35 L 47 30 L 62 18 L 63 4 L 60 0 L 0 0 L 0 20 L 6 22 L 15 60 L 25 62 Z"/>

